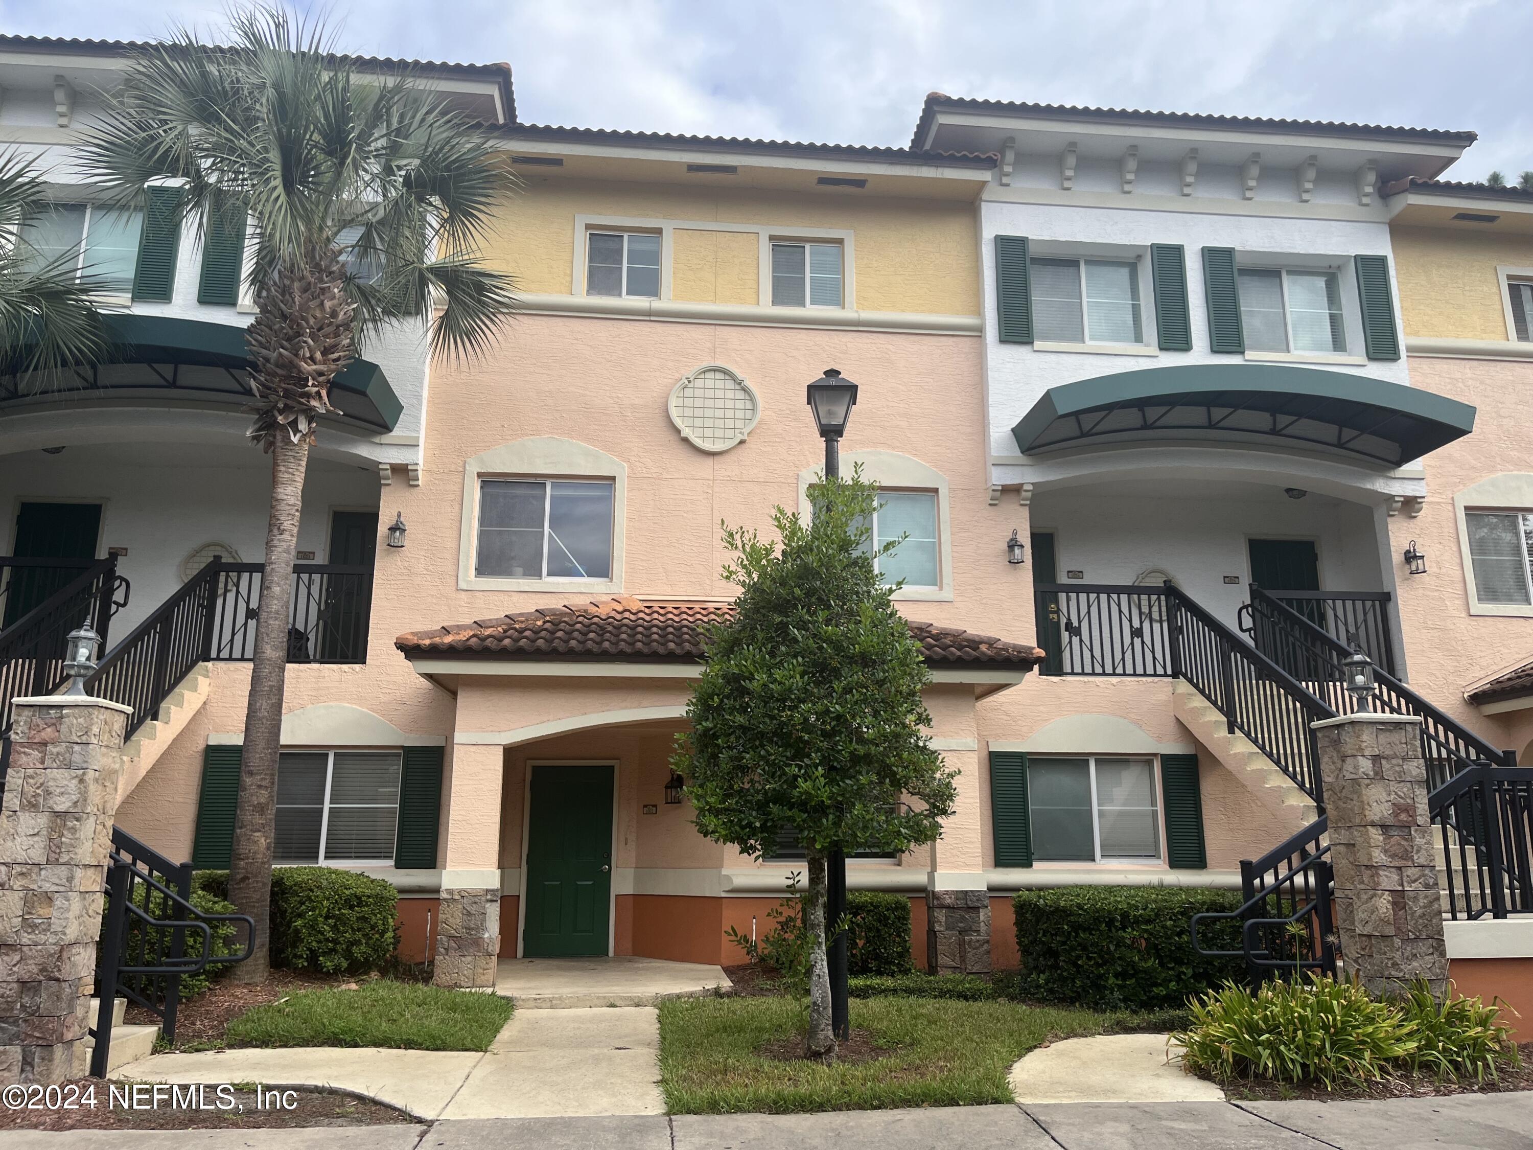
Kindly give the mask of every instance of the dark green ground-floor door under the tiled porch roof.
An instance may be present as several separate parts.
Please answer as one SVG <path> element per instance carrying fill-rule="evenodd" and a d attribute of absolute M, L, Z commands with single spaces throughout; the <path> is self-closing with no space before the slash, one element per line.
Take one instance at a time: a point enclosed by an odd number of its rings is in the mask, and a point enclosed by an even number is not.
<path fill-rule="evenodd" d="M 612 767 L 530 770 L 523 954 L 607 954 Z"/>

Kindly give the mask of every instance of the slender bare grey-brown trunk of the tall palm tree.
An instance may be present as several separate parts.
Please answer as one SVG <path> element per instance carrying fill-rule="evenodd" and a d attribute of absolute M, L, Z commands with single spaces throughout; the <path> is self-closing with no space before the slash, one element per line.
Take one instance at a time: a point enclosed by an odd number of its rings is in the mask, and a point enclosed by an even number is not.
<path fill-rule="evenodd" d="M 308 442 L 279 435 L 271 451 L 271 512 L 267 520 L 265 572 L 256 616 L 256 658 L 245 704 L 245 751 L 239 767 L 235 849 L 228 865 L 228 900 L 256 920 L 248 960 L 235 963 L 238 983 L 264 983 L 271 968 L 271 845 L 276 830 L 277 754 L 282 750 L 282 696 L 287 687 L 288 613 L 293 558 Z"/>

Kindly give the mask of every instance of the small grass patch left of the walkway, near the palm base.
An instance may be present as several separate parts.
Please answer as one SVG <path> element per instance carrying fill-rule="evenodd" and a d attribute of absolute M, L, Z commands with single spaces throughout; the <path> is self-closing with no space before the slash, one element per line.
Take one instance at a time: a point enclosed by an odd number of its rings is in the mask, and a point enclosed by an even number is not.
<path fill-rule="evenodd" d="M 510 1018 L 509 998 L 376 978 L 356 991 L 299 991 L 235 1018 L 228 1046 L 383 1046 L 487 1050 Z"/>

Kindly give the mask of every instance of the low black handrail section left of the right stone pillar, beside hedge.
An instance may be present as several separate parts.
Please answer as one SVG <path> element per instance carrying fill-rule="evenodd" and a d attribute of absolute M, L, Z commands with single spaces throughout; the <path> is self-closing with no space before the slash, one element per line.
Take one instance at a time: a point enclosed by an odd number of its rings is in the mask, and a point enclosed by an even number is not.
<path fill-rule="evenodd" d="M 1240 906 L 1194 914 L 1193 948 L 1205 955 L 1245 958 L 1252 983 L 1305 971 L 1335 977 L 1335 876 L 1325 837 L 1321 814 L 1260 859 L 1242 860 Z M 1240 925 L 1239 951 L 1203 946 L 1199 928 L 1216 922 Z"/>

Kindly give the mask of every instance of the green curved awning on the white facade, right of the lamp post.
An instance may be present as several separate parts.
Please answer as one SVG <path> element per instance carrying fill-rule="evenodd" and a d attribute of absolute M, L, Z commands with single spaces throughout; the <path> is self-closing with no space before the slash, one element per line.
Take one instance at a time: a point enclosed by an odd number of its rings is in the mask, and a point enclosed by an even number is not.
<path fill-rule="evenodd" d="M 1170 439 L 1265 439 L 1401 466 L 1473 428 L 1475 408 L 1401 383 L 1282 363 L 1199 363 L 1049 388 L 1012 437 L 1024 455 Z"/>

